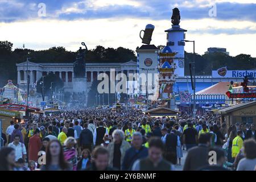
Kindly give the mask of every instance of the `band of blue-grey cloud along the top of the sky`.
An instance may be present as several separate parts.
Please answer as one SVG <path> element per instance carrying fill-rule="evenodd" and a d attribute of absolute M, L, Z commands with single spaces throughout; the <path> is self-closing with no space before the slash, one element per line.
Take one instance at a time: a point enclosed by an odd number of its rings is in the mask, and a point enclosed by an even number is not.
<path fill-rule="evenodd" d="M 120 0 L 121 1 L 121 0 Z M 195 0 L 189 1 L 193 2 Z M 86 6 L 89 2 L 82 0 L 44 0 L 46 3 L 47 18 L 56 19 L 99 19 L 99 18 L 150 18 L 155 20 L 170 19 L 172 8 L 175 3 L 181 12 L 181 21 L 186 19 L 209 18 L 208 12 L 210 7 L 195 6 L 189 7 L 180 4 L 179 0 L 159 1 L 159 0 L 140 0 L 141 6 L 134 7 L 131 5 L 112 5 L 98 9 L 92 9 Z M 31 8 L 31 4 L 36 6 Z M 38 4 L 42 0 L 10 0 L 1 3 L 0 1 L 0 22 L 13 22 L 16 20 L 38 18 Z M 70 7 L 73 3 L 78 3 L 77 8 L 82 13 L 69 12 L 60 13 L 63 7 Z M 19 4 L 19 6 L 18 6 Z M 16 6 L 17 5 L 17 6 Z M 204 3 L 205 5 L 205 3 Z M 22 8 L 20 8 L 22 6 Z M 256 22 L 256 3 L 217 3 L 217 20 L 250 20 Z"/>

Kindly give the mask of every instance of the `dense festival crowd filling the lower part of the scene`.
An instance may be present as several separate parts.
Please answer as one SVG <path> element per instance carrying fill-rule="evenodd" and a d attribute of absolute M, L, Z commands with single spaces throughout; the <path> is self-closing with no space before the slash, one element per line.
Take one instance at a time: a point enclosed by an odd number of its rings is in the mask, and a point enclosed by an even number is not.
<path fill-rule="evenodd" d="M 150 117 L 138 109 L 31 115 L 3 131 L 0 170 L 256 170 L 254 123 L 213 113 Z M 211 160 L 216 154 L 216 160 Z M 211 162 L 212 161 L 212 162 Z"/>

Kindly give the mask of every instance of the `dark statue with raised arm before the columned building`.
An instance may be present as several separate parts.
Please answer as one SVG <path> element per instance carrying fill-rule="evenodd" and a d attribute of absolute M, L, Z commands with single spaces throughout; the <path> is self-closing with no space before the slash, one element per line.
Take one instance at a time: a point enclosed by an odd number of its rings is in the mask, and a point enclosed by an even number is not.
<path fill-rule="evenodd" d="M 85 49 L 82 47 L 79 48 L 79 53 L 76 56 L 76 61 L 74 63 L 74 77 L 75 78 L 85 78 L 85 53 L 88 51 L 84 42 L 82 42 L 82 46 L 85 46 Z"/>

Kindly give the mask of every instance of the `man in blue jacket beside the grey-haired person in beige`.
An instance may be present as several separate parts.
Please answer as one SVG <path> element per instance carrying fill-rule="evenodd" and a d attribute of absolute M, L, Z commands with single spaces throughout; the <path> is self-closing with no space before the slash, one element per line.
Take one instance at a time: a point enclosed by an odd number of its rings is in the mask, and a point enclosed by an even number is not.
<path fill-rule="evenodd" d="M 142 142 L 142 134 L 135 132 L 133 134 L 133 138 L 131 139 L 131 148 L 125 152 L 125 158 L 123 158 L 123 171 L 130 171 L 136 160 L 143 159 L 148 156 L 148 150 L 146 147 L 142 146 Z"/>

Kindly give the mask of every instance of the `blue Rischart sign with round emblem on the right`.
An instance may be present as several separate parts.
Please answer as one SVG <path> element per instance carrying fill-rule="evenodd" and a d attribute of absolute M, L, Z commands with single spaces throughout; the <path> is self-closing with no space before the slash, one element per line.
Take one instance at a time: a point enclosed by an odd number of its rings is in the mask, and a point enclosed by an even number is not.
<path fill-rule="evenodd" d="M 213 78 L 244 78 L 245 76 L 256 77 L 256 72 L 247 70 L 228 70 L 226 67 L 212 71 Z"/>

